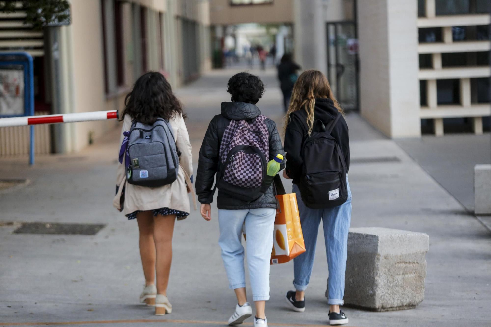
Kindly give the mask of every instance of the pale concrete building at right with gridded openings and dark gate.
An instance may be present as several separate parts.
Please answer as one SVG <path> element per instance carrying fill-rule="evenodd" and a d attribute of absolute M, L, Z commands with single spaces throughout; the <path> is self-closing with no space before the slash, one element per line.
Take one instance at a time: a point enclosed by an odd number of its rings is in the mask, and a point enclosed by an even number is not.
<path fill-rule="evenodd" d="M 286 4 L 290 5 L 290 4 Z M 490 128 L 489 0 L 295 0 L 295 59 L 389 137 Z"/>

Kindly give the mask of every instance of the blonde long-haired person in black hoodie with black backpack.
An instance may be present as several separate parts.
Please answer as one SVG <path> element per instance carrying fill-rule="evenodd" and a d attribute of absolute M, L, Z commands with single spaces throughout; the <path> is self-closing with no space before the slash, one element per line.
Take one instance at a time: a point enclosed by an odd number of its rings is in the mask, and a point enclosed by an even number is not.
<path fill-rule="evenodd" d="M 305 310 L 305 290 L 312 273 L 319 224 L 322 220 L 329 269 L 330 325 L 348 323 L 344 300 L 351 191 L 348 126 L 327 82 L 319 71 L 303 72 L 286 116 L 284 177 L 293 179 L 306 252 L 293 260 L 295 291 L 286 300 L 294 311 Z"/>

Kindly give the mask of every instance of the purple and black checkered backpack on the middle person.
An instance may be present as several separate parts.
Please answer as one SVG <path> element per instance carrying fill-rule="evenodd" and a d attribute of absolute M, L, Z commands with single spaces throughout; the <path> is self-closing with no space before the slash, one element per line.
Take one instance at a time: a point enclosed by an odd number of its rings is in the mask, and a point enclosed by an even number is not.
<path fill-rule="evenodd" d="M 219 190 L 252 201 L 271 185 L 271 181 L 265 183 L 269 160 L 267 118 L 259 115 L 251 120 L 230 121 L 220 144 Z"/>

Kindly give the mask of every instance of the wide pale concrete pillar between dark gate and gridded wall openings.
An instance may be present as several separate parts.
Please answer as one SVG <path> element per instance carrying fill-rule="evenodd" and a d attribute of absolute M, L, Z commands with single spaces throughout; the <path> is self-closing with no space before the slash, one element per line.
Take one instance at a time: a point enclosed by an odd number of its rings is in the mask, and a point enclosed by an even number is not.
<path fill-rule="evenodd" d="M 387 136 L 421 136 L 417 1 L 357 3 L 361 114 Z"/>

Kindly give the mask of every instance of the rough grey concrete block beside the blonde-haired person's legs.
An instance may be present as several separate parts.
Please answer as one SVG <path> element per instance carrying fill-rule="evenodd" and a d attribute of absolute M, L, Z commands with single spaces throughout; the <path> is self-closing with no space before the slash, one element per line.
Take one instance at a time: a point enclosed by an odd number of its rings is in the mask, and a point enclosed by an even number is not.
<path fill-rule="evenodd" d="M 345 304 L 372 311 L 414 308 L 425 297 L 424 233 L 350 228 Z"/>

